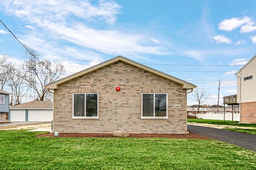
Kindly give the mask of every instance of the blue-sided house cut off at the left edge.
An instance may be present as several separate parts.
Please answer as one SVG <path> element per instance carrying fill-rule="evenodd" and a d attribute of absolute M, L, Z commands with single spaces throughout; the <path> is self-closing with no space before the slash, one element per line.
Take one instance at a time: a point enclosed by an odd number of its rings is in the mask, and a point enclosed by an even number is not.
<path fill-rule="evenodd" d="M 10 94 L 0 90 L 0 122 L 6 122 L 8 120 Z"/>

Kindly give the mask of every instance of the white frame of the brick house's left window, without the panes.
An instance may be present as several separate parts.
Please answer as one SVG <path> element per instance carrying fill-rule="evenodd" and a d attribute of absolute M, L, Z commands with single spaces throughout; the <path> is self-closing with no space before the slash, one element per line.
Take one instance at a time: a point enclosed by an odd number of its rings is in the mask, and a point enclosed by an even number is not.
<path fill-rule="evenodd" d="M 84 94 L 84 116 L 74 116 L 74 95 Z M 86 116 L 86 94 L 97 94 L 97 116 Z M 99 118 L 99 94 L 98 93 L 72 93 L 72 119 L 98 119 Z"/>

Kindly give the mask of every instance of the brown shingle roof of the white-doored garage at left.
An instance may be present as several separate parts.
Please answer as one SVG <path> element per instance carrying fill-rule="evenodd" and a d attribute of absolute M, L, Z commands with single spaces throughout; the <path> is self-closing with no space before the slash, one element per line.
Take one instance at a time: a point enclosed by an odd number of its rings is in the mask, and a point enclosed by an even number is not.
<path fill-rule="evenodd" d="M 18 104 L 10 107 L 10 109 L 52 109 L 52 102 L 48 101 L 32 101 L 24 104 Z"/>

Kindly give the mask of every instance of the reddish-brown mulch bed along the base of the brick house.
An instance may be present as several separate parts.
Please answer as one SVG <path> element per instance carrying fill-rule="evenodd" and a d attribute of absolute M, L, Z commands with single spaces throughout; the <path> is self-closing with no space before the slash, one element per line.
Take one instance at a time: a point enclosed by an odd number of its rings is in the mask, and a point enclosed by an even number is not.
<path fill-rule="evenodd" d="M 36 137 L 54 137 L 54 133 L 46 133 L 37 135 Z M 59 133 L 58 137 L 116 137 L 112 133 Z M 130 137 L 157 137 L 157 138 L 173 138 L 173 139 L 211 139 L 195 133 L 176 134 L 176 133 L 129 133 Z"/>

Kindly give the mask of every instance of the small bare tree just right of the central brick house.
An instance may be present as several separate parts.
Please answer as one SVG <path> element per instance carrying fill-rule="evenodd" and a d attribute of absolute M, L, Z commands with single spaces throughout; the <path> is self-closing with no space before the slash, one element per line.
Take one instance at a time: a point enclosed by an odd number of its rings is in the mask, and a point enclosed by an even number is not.
<path fill-rule="evenodd" d="M 194 92 L 192 92 L 192 100 L 195 100 L 198 102 L 198 110 L 197 113 L 199 113 L 200 106 L 204 104 L 204 102 L 210 97 L 210 93 L 204 88 L 196 88 L 194 89 Z"/>

